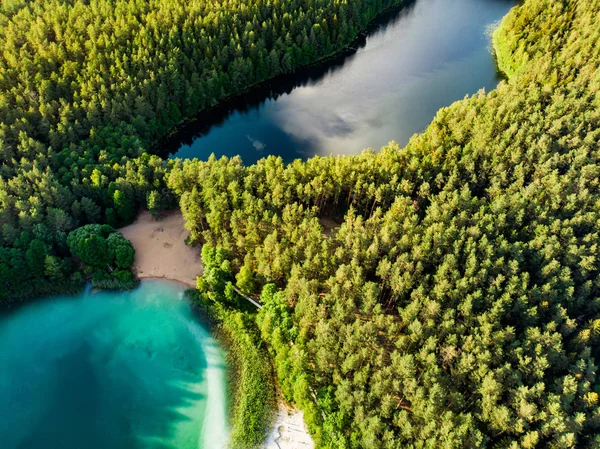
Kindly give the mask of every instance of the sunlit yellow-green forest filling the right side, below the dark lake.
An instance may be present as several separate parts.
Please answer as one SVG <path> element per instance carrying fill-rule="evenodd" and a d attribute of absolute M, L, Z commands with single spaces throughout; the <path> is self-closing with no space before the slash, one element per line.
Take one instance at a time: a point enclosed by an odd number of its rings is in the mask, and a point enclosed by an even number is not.
<path fill-rule="evenodd" d="M 232 273 L 260 292 L 319 447 L 600 446 L 598 17 L 514 9 L 495 34 L 510 80 L 406 148 L 173 166 L 193 238 L 224 261 L 213 299 L 235 299 Z"/>

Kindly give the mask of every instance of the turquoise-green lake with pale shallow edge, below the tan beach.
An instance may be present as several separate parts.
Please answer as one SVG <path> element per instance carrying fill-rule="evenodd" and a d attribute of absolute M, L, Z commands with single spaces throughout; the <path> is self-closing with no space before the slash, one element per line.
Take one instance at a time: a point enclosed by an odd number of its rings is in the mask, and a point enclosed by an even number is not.
<path fill-rule="evenodd" d="M 218 449 L 223 352 L 183 288 L 34 301 L 0 316 L 2 449 Z"/>

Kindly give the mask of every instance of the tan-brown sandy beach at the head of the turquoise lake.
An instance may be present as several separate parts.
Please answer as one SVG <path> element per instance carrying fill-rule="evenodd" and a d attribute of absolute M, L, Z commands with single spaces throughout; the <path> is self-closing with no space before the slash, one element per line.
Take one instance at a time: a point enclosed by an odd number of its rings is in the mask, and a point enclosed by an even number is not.
<path fill-rule="evenodd" d="M 140 279 L 165 278 L 196 286 L 196 276 L 203 270 L 200 246 L 185 244 L 188 231 L 181 212 L 167 212 L 159 220 L 142 212 L 133 224 L 119 231 L 135 248 L 134 268 Z"/>

